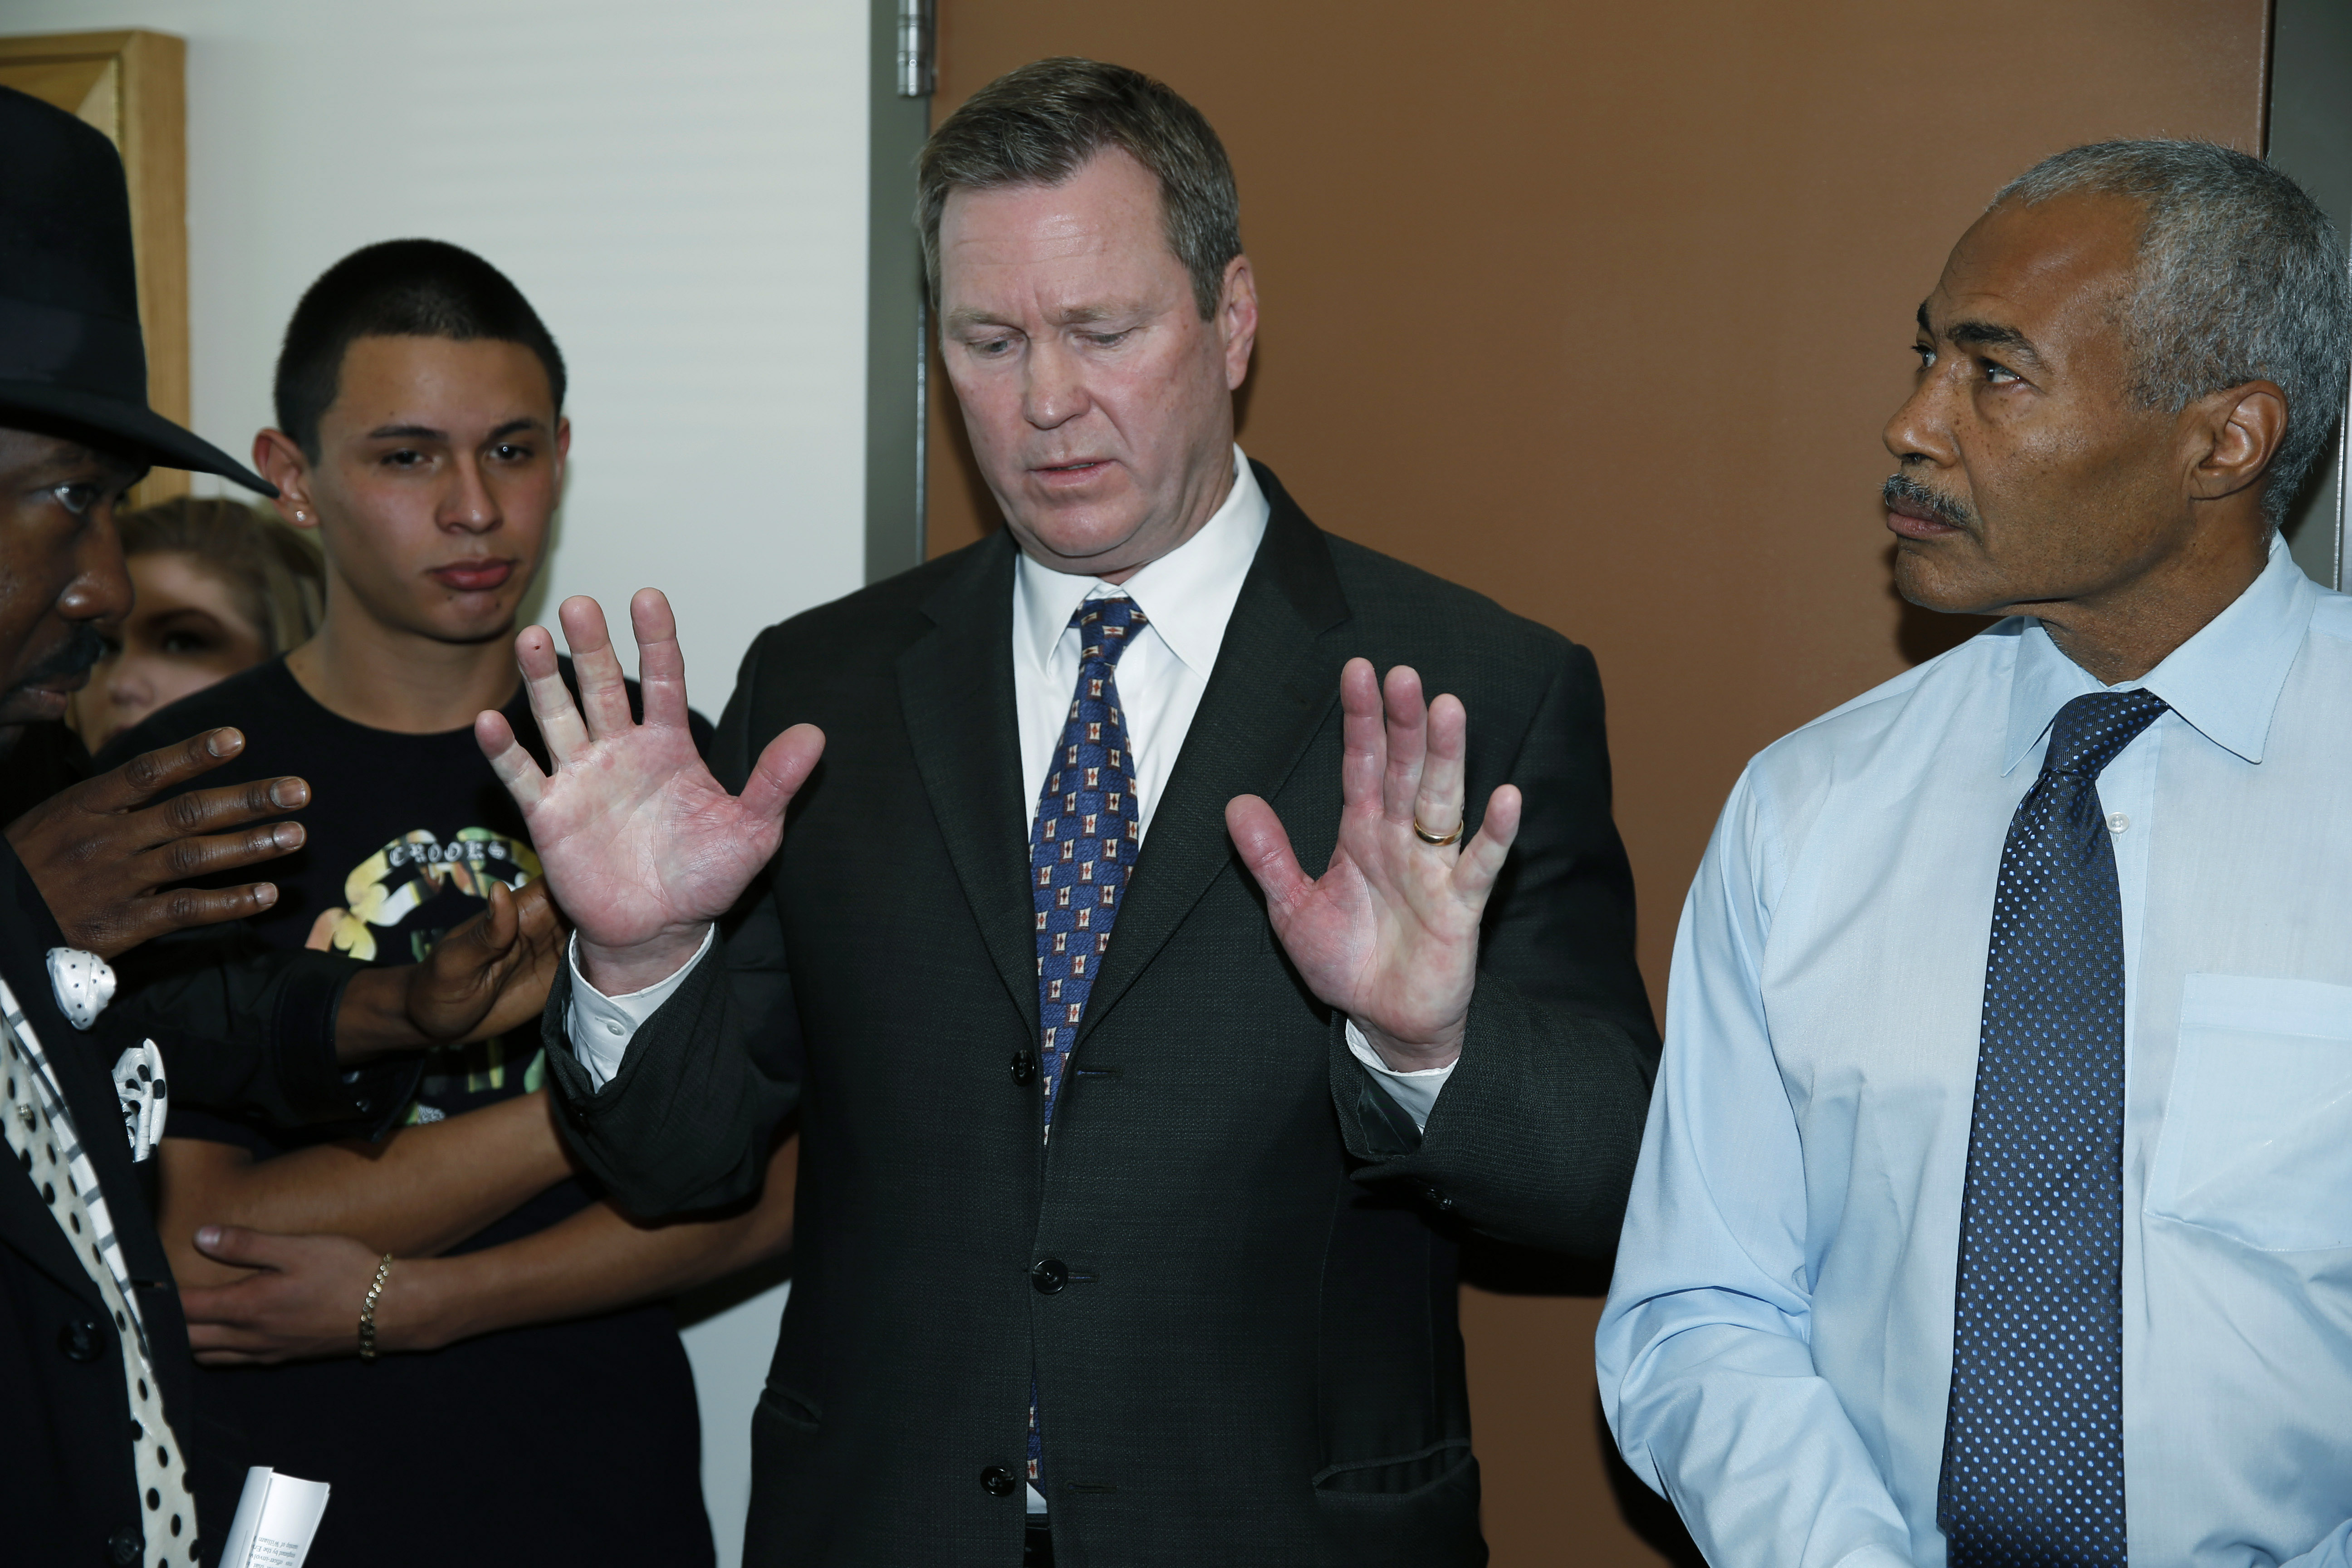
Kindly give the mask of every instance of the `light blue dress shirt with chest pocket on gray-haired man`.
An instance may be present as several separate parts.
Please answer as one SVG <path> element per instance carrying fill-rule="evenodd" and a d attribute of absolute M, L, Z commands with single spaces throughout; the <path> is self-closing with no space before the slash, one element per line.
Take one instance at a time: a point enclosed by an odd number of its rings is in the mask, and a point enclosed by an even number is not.
<path fill-rule="evenodd" d="M 2105 771 L 2124 917 L 2133 1568 L 2345 1563 L 2352 599 L 2272 543 Z M 1625 1460 L 1717 1568 L 1943 1568 L 1962 1178 L 2002 842 L 2103 686 L 2011 618 L 1766 748 L 1675 940 L 1599 1328 Z"/>

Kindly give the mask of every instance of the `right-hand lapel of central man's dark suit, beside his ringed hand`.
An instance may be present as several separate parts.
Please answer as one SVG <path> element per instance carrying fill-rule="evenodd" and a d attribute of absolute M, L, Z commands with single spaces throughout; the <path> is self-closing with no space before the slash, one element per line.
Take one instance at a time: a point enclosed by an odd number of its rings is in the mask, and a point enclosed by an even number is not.
<path fill-rule="evenodd" d="M 1338 703 L 1338 670 L 1348 656 L 1329 632 L 1348 621 L 1348 599 L 1331 550 L 1275 475 L 1254 468 L 1270 505 L 1265 538 L 1225 623 L 1167 797 L 1152 811 L 1080 1039 L 1117 1006 L 1235 858 L 1225 802 L 1235 795 L 1272 799 Z"/>

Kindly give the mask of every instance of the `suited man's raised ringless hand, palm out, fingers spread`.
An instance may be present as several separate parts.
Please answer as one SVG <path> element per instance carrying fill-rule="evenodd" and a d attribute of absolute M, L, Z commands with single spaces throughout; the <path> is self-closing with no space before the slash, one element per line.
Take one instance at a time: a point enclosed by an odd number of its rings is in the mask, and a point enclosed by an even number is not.
<path fill-rule="evenodd" d="M 670 602 L 642 588 L 628 614 L 642 724 L 628 715 L 604 611 L 586 597 L 557 611 L 579 703 L 557 672 L 555 637 L 543 625 L 515 637 L 550 771 L 539 771 L 503 715 L 473 722 L 492 771 L 522 806 L 555 903 L 579 931 L 581 973 L 607 997 L 684 969 L 776 853 L 783 811 L 826 750 L 814 724 L 795 724 L 760 752 L 743 795 L 722 790 L 687 729 L 687 665 Z"/>

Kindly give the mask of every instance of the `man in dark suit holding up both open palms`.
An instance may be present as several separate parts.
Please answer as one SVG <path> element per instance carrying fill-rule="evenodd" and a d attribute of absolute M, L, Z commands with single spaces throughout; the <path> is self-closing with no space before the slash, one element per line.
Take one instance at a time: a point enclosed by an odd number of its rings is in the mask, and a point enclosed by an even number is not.
<path fill-rule="evenodd" d="M 1456 1229 L 1604 1255 L 1656 1053 L 1592 658 L 1232 447 L 1167 87 L 1002 78 L 922 223 L 1007 531 L 762 635 L 717 778 L 652 590 L 644 724 L 586 599 L 583 712 L 517 642 L 553 773 L 477 724 L 579 922 L 569 1138 L 666 1213 L 800 1114 L 748 1561 L 1484 1561 Z"/>

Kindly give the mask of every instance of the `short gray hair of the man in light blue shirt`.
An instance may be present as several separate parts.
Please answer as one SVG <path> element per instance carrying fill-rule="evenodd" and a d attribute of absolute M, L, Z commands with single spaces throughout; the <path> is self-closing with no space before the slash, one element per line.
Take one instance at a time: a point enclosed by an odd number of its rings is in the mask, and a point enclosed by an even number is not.
<path fill-rule="evenodd" d="M 2286 393 L 2286 435 L 2263 489 L 2277 527 L 2345 407 L 2352 275 L 2336 226 L 2286 174 L 2211 141 L 2070 148 L 2002 186 L 1992 205 L 2058 195 L 2140 202 L 2126 331 L 2145 407 L 2178 414 L 2246 381 Z"/>

